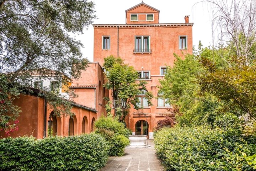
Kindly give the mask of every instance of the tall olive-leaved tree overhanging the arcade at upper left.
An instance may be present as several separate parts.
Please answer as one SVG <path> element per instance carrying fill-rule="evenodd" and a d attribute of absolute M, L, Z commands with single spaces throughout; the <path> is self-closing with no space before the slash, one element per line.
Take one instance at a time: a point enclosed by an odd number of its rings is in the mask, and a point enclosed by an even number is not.
<path fill-rule="evenodd" d="M 81 34 L 96 18 L 94 12 L 94 2 L 87 0 L 0 0 L 0 73 L 5 73 L 0 80 L 0 106 L 5 109 L 0 113 L 0 129 L 11 125 L 10 121 L 2 124 L 3 117 L 17 116 L 18 108 L 8 98 L 31 85 L 32 72 L 40 73 L 42 79 L 54 76 L 59 85 L 67 83 L 63 74 L 79 77 L 88 60 L 82 58 L 81 42 L 69 33 Z M 70 114 L 70 104 L 57 100 L 53 92 L 46 93 L 55 108 L 69 105 L 60 114 Z"/>

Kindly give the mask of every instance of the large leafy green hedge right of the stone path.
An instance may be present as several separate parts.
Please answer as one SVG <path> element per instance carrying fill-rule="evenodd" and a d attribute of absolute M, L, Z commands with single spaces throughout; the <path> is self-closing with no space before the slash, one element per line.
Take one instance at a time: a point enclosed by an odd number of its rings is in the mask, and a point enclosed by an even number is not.
<path fill-rule="evenodd" d="M 239 129 L 163 128 L 154 137 L 167 171 L 256 169 L 256 137 L 242 137 Z"/>

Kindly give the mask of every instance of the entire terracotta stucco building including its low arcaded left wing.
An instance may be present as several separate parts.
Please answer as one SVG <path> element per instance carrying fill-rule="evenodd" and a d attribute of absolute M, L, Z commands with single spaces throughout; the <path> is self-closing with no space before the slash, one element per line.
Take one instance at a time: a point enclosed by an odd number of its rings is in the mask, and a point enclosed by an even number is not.
<path fill-rule="evenodd" d="M 33 135 L 43 138 L 91 132 L 94 121 L 106 114 L 103 98 L 109 97 L 111 92 L 103 87 L 106 80 L 102 65 L 105 57 L 114 55 L 138 71 L 138 81 L 145 80 L 147 91 L 155 97 L 152 99 L 153 106 L 148 106 L 140 95 L 142 109 L 129 109 L 124 122 L 133 134 L 147 134 L 148 138 L 153 138 L 157 122 L 164 119 L 168 109 L 171 109 L 171 105 L 159 94 L 159 80 L 164 79 L 166 66 L 174 65 L 174 53 L 181 57 L 192 54 L 193 23 L 189 22 L 189 16 L 185 16 L 182 23 L 160 23 L 160 11 L 144 2 L 125 12 L 125 24 L 93 25 L 95 62 L 89 63 L 79 79 L 72 79 L 69 87 L 79 95 L 72 103 L 75 115 L 54 116 L 45 99 L 36 95 L 39 90 L 33 89 L 34 95 L 21 94 L 15 100 L 22 112 L 18 117 L 19 130 L 11 133 L 11 137 Z M 5 135 L 0 133 L 0 137 Z"/>

